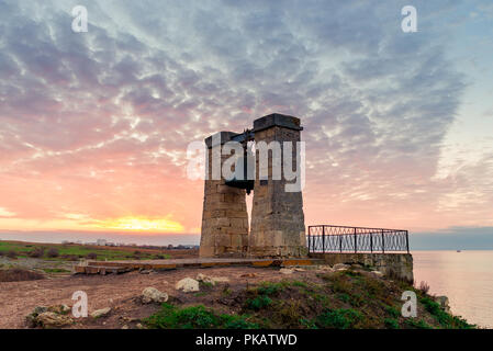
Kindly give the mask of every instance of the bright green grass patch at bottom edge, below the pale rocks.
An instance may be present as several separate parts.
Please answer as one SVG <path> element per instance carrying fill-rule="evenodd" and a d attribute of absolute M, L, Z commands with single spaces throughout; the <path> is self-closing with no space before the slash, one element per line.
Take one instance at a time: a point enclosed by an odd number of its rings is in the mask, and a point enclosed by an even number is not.
<path fill-rule="evenodd" d="M 161 309 L 144 320 L 152 329 L 257 329 L 247 316 L 219 314 L 203 305 L 177 307 L 165 303 Z"/>

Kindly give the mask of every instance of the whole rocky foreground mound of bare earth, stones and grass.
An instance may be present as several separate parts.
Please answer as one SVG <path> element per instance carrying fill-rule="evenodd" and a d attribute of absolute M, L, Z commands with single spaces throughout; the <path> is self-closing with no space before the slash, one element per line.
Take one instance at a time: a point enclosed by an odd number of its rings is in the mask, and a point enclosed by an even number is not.
<path fill-rule="evenodd" d="M 418 295 L 418 318 L 400 315 Z M 76 291 L 87 318 L 71 316 Z M 143 295 L 144 293 L 144 295 Z M 165 303 L 165 304 L 163 304 Z M 199 306 L 199 307 L 198 307 Z M 204 306 L 204 307 L 200 307 Z M 37 308 L 36 308 L 37 307 Z M 32 314 L 34 312 L 34 314 Z M 26 316 L 30 316 L 26 322 Z M 150 319 L 147 317 L 153 316 Z M 209 268 L 0 283 L 0 328 L 466 328 L 424 292 L 361 267 Z"/>

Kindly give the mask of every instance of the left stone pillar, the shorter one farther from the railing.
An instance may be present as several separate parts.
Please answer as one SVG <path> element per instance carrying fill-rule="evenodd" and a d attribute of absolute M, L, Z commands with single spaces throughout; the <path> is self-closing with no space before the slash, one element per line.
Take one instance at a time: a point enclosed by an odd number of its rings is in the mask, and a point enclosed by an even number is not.
<path fill-rule="evenodd" d="M 244 257 L 248 246 L 248 214 L 245 190 L 227 186 L 224 178 L 212 179 L 213 148 L 221 152 L 224 143 L 236 135 L 221 132 L 221 145 L 205 139 L 209 152 L 208 178 L 204 188 L 200 257 Z M 215 149 L 217 148 L 217 149 Z M 221 167 L 229 156 L 221 156 Z"/>

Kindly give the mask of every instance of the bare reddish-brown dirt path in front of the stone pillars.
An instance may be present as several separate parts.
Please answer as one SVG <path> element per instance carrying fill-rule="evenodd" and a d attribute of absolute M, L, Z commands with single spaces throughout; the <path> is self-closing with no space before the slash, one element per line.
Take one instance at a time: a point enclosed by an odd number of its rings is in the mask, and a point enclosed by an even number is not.
<path fill-rule="evenodd" d="M 135 303 L 132 299 L 139 296 L 145 287 L 154 286 L 172 297 L 187 301 L 191 295 L 176 291 L 175 284 L 187 276 L 194 279 L 198 273 L 226 276 L 229 279 L 228 284 L 232 288 L 244 287 L 260 281 L 277 281 L 287 278 L 279 273 L 279 269 L 236 267 L 179 269 L 154 274 L 141 274 L 135 271 L 121 275 L 75 275 L 41 281 L 0 283 L 0 328 L 25 328 L 24 317 L 36 306 L 59 304 L 71 306 L 74 303 L 71 296 L 76 291 L 83 291 L 88 294 L 89 313 L 105 307 L 119 310 L 119 316 L 108 319 L 104 325 L 88 325 L 88 328 L 121 328 L 121 322 L 117 319 L 121 319 L 122 316 L 128 316 L 130 319 L 142 318 L 158 308 L 158 306 L 135 308 Z M 245 274 L 251 275 L 251 273 L 255 276 L 245 276 Z M 290 276 L 298 279 L 310 273 L 313 272 L 295 272 Z M 211 298 L 213 296 L 206 294 L 194 297 L 194 301 L 200 303 L 200 299 Z M 78 327 L 83 327 L 83 324 Z"/>

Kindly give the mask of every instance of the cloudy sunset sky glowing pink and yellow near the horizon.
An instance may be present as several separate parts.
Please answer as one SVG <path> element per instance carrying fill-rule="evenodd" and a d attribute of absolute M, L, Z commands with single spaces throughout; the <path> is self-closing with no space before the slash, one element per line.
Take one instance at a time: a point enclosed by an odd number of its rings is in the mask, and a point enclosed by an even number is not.
<path fill-rule="evenodd" d="M 493 248 L 492 23 L 473 0 L 0 0 L 0 239 L 198 242 L 188 145 L 278 112 L 306 225 Z"/>

